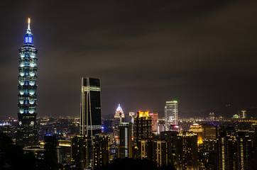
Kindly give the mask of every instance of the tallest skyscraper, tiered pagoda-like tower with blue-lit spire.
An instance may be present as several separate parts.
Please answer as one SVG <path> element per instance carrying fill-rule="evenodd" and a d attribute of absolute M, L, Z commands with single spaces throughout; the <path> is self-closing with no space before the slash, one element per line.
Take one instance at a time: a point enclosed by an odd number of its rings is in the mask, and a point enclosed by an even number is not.
<path fill-rule="evenodd" d="M 38 142 L 36 123 L 37 105 L 37 54 L 33 45 L 33 34 L 28 18 L 28 29 L 23 47 L 19 49 L 18 58 L 18 129 L 16 144 L 20 146 L 35 145 Z"/>

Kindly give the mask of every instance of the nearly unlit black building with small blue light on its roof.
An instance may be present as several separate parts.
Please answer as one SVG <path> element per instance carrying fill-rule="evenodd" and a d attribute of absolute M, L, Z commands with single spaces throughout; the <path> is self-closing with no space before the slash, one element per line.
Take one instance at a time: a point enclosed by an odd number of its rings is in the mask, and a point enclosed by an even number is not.
<path fill-rule="evenodd" d="M 58 139 L 55 135 L 45 135 L 45 167 L 55 169 L 58 164 L 57 156 Z"/>

